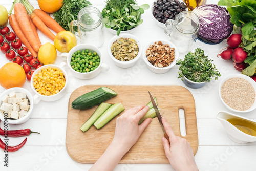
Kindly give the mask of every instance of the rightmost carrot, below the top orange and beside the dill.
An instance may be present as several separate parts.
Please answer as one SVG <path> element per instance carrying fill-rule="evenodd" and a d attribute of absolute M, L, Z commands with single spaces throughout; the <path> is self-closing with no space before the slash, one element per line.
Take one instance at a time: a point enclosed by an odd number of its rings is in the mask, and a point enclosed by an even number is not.
<path fill-rule="evenodd" d="M 65 30 L 52 17 L 47 15 L 47 13 L 45 13 L 44 11 L 40 9 L 35 9 L 33 12 L 42 20 L 42 22 L 45 23 L 47 27 L 49 27 L 56 33 L 59 33 Z"/>

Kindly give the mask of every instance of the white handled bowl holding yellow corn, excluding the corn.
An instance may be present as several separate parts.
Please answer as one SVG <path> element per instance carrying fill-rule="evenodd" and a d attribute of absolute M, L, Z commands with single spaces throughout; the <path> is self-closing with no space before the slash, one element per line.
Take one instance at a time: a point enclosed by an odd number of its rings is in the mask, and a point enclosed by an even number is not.
<path fill-rule="evenodd" d="M 65 83 L 65 86 L 63 87 L 63 89 L 62 89 L 60 92 L 58 92 L 58 93 L 56 93 L 56 94 L 54 94 L 54 95 L 51 95 L 51 96 L 45 96 L 45 95 L 39 94 L 39 93 L 35 90 L 35 88 L 34 88 L 34 86 L 33 86 L 35 75 L 38 74 L 38 72 L 41 71 L 42 68 L 47 68 L 47 67 L 60 69 L 60 70 L 63 72 L 63 75 L 64 75 L 64 77 L 65 77 L 65 79 L 66 79 L 66 83 Z M 40 100 L 44 100 L 44 101 L 56 101 L 56 100 L 60 99 L 61 97 L 63 97 L 63 96 L 66 94 L 66 92 L 67 92 L 67 87 L 68 87 L 68 74 L 66 73 L 65 70 L 63 70 L 63 69 L 62 69 L 61 67 L 59 67 L 59 66 L 56 66 L 56 65 L 53 65 L 53 64 L 45 65 L 45 66 L 42 66 L 42 67 L 40 67 L 40 68 L 38 68 L 38 69 L 35 70 L 35 72 L 34 72 L 33 75 L 31 76 L 30 85 L 31 85 L 32 90 L 35 92 L 35 95 L 34 95 L 34 97 L 33 97 L 35 104 L 39 103 Z"/>

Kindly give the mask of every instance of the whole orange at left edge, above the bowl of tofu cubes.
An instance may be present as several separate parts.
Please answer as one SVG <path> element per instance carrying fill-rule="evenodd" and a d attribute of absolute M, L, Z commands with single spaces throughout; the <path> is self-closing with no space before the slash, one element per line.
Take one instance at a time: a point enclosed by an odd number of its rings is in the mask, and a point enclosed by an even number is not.
<path fill-rule="evenodd" d="M 17 63 L 6 63 L 0 68 L 0 85 L 3 88 L 23 87 L 25 81 L 25 71 Z"/>

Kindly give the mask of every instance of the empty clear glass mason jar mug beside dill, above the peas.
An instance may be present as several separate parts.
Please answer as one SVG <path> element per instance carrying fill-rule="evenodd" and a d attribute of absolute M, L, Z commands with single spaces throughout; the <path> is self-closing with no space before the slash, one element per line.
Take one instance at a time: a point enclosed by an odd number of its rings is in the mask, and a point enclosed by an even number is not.
<path fill-rule="evenodd" d="M 70 31 L 79 36 L 81 44 L 91 44 L 101 47 L 104 42 L 103 17 L 95 7 L 82 8 L 77 16 L 78 20 L 70 22 Z M 77 30 L 74 30 L 77 26 Z"/>

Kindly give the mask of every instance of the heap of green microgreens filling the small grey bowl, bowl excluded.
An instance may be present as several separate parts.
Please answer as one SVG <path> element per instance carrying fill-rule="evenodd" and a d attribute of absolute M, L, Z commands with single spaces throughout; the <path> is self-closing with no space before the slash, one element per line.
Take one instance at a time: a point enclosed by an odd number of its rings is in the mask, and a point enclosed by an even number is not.
<path fill-rule="evenodd" d="M 197 48 L 194 53 L 189 51 L 183 61 L 177 62 L 177 65 L 180 65 L 178 78 L 182 78 L 183 81 L 183 77 L 186 77 L 194 82 L 209 82 L 213 77 L 217 80 L 221 74 L 212 61 L 204 55 L 201 48 Z"/>

